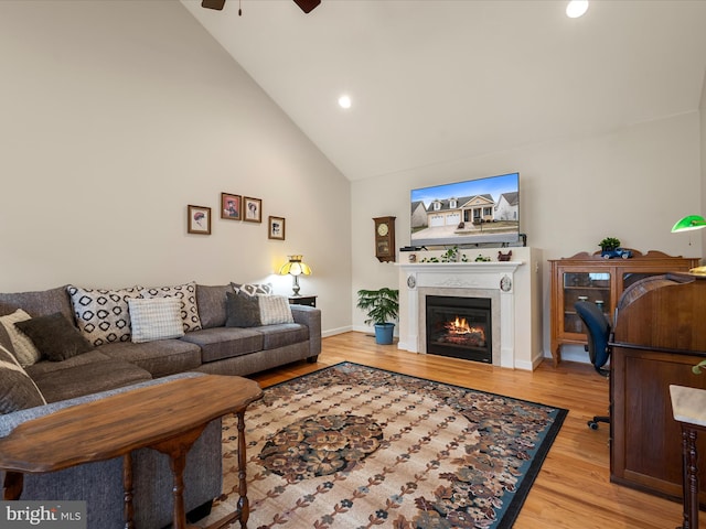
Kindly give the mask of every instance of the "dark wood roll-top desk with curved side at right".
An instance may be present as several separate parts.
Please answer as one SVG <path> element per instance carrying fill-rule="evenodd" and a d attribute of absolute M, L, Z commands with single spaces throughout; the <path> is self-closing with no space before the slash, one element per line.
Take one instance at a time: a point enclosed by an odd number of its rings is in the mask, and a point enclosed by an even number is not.
<path fill-rule="evenodd" d="M 682 434 L 670 385 L 706 389 L 692 366 L 706 358 L 706 278 L 664 274 L 625 290 L 611 356 L 610 479 L 681 499 Z M 706 453 L 706 440 L 698 440 Z M 706 467 L 698 472 L 702 490 Z M 699 495 L 706 505 L 706 495 Z"/>

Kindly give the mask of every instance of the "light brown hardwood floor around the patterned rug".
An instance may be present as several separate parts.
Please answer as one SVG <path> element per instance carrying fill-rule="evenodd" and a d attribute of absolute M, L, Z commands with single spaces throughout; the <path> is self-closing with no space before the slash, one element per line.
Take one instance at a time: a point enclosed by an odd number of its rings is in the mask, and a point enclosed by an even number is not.
<path fill-rule="evenodd" d="M 586 421 L 608 409 L 608 382 L 591 366 L 545 360 L 535 371 L 512 370 L 378 346 L 372 336 L 345 333 L 323 339 L 317 364 L 296 363 L 253 378 L 270 386 L 340 361 L 404 373 L 431 380 L 566 408 L 561 427 L 520 512 L 515 528 L 674 529 L 682 505 L 610 483 L 608 425 Z M 702 511 L 700 525 L 706 527 Z"/>

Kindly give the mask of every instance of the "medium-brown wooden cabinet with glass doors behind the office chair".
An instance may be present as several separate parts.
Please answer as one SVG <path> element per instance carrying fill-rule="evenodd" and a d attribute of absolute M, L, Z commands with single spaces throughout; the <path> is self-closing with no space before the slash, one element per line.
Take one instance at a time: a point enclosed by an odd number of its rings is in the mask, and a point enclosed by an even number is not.
<path fill-rule="evenodd" d="M 698 259 L 671 257 L 661 251 L 645 255 L 631 250 L 630 259 L 603 259 L 600 252 L 577 253 L 552 263 L 552 356 L 561 360 L 564 344 L 586 344 L 586 332 L 574 304 L 579 299 L 598 302 L 612 322 L 616 304 L 623 290 L 641 279 L 666 272 L 688 271 Z"/>

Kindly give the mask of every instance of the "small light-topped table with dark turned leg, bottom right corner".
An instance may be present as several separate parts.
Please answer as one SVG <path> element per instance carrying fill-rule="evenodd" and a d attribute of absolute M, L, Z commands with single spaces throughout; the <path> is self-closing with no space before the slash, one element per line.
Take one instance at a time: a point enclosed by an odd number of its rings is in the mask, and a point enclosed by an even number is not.
<path fill-rule="evenodd" d="M 670 385 L 672 414 L 682 428 L 684 520 L 676 529 L 698 529 L 698 452 L 696 438 L 706 432 L 706 390 Z"/>

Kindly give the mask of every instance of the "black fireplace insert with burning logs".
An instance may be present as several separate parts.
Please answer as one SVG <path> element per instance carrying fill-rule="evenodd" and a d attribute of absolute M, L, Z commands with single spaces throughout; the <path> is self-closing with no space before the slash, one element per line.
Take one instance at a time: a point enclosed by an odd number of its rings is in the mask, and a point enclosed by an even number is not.
<path fill-rule="evenodd" d="M 427 353 L 492 364 L 489 298 L 426 296 Z"/>

